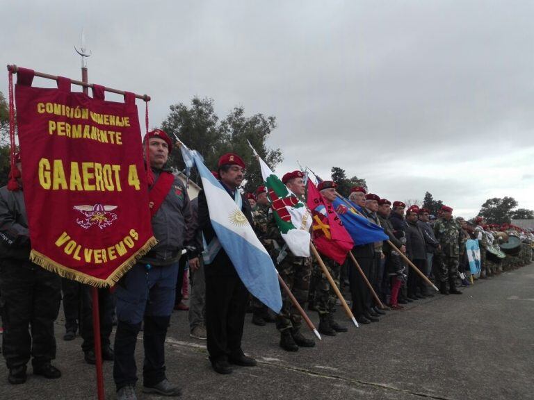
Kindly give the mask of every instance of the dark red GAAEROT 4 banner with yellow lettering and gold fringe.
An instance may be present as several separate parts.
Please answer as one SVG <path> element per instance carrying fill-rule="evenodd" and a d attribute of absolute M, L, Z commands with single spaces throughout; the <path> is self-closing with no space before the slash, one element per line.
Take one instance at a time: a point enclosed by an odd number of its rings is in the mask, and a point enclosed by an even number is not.
<path fill-rule="evenodd" d="M 17 75 L 22 186 L 34 263 L 89 285 L 113 286 L 156 244 L 137 106 Z"/>

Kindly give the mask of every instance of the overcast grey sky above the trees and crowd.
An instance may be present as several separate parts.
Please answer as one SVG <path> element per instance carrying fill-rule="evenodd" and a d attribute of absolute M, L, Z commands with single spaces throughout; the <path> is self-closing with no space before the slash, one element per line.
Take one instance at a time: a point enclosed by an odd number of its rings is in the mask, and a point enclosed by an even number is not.
<path fill-rule="evenodd" d="M 472 217 L 534 209 L 533 1 L 5 1 L 0 58 L 147 93 L 151 126 L 212 97 L 277 117 L 278 174 L 332 166 Z M 7 95 L 7 74 L 0 91 Z M 35 81 L 45 85 L 44 81 Z M 142 106 L 139 103 L 140 106 Z M 202 151 L 202 149 L 199 149 Z"/>

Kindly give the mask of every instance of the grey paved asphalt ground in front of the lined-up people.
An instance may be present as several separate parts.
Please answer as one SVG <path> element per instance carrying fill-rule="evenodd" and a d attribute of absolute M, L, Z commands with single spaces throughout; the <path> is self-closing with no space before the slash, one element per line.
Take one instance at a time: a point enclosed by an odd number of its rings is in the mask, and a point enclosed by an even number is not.
<path fill-rule="evenodd" d="M 477 281 L 461 296 L 416 301 L 297 353 L 278 347 L 274 324 L 254 326 L 249 314 L 243 349 L 259 365 L 229 376 L 210 369 L 205 342 L 189 337 L 186 321 L 187 313 L 174 313 L 166 348 L 168 377 L 184 387 L 183 399 L 534 399 L 534 264 Z M 47 381 L 30 367 L 26 384 L 13 386 L 2 368 L 1 400 L 97 398 L 81 339 L 62 335 L 60 318 L 55 365 L 63 377 Z M 138 365 L 142 347 L 139 340 Z M 106 399 L 115 399 L 111 371 L 105 363 Z M 163 399 L 140 385 L 139 399 Z"/>

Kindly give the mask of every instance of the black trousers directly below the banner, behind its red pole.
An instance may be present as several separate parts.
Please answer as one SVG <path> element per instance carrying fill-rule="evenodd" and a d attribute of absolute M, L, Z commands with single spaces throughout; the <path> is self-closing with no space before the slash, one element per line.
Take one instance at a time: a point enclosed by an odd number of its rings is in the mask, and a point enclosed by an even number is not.
<path fill-rule="evenodd" d="M 109 346 L 109 336 L 113 330 L 113 309 L 115 301 L 113 294 L 107 288 L 98 289 L 98 308 L 100 316 L 100 342 L 102 347 Z M 92 328 L 92 288 L 81 285 L 81 349 L 89 351 L 95 349 L 95 332 Z"/>

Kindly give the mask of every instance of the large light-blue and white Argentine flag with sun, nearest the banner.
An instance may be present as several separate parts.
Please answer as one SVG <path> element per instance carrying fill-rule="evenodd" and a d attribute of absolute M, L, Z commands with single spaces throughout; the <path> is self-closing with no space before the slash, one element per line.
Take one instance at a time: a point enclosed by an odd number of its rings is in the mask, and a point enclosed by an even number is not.
<path fill-rule="evenodd" d="M 275 313 L 280 313 L 282 294 L 278 272 L 269 253 L 259 242 L 241 208 L 202 163 L 200 154 L 188 149 L 186 151 L 189 151 L 189 156 L 195 160 L 202 178 L 213 230 L 232 260 L 239 278 L 252 296 Z"/>

